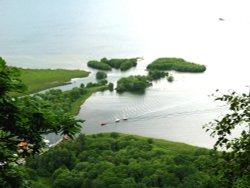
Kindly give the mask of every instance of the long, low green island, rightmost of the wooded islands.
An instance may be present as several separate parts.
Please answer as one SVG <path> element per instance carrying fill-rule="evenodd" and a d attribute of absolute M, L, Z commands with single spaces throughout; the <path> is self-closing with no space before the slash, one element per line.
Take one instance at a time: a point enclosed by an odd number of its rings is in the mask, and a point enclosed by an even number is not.
<path fill-rule="evenodd" d="M 205 65 L 187 62 L 181 58 L 159 58 L 147 66 L 148 70 L 174 70 L 179 72 L 204 72 Z"/>

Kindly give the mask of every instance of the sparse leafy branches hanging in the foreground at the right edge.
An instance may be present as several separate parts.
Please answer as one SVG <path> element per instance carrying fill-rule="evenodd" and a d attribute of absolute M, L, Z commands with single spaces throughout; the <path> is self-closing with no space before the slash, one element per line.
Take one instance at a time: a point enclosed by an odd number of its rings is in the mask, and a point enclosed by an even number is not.
<path fill-rule="evenodd" d="M 216 101 L 225 102 L 229 111 L 220 119 L 210 122 L 206 131 L 217 137 L 215 149 L 226 149 L 223 153 L 227 164 L 223 172 L 228 185 L 248 179 L 250 184 L 250 95 L 230 92 L 216 97 Z M 237 134 L 234 131 L 239 130 Z M 246 182 L 245 180 L 243 182 Z M 244 186 L 243 186 L 244 187 Z"/>

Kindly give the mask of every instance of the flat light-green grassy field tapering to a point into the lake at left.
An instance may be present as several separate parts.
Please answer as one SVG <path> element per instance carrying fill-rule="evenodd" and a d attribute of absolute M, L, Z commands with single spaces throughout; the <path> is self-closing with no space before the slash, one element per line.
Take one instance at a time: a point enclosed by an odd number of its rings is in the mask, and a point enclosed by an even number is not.
<path fill-rule="evenodd" d="M 69 82 L 72 78 L 87 77 L 89 72 L 83 70 L 63 69 L 19 69 L 21 80 L 28 86 L 27 94 L 42 91 L 48 88 L 60 86 Z"/>

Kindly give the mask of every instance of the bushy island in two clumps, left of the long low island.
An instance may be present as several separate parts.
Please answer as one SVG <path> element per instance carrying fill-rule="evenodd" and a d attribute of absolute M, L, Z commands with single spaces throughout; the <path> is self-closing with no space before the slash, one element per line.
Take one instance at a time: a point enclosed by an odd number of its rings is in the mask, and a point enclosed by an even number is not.
<path fill-rule="evenodd" d="M 137 65 L 138 58 L 130 59 L 110 59 L 102 58 L 100 61 L 89 61 L 88 66 L 100 69 L 100 70 L 111 70 L 112 68 L 120 69 L 121 71 L 126 71 L 131 67 Z"/>

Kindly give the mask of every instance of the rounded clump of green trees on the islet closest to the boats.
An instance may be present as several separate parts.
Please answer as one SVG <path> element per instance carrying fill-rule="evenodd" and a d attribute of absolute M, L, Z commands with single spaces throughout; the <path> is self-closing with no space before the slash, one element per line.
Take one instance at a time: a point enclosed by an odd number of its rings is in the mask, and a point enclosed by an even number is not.
<path fill-rule="evenodd" d="M 147 76 L 129 76 L 118 80 L 116 90 L 120 93 L 124 91 L 141 93 L 150 85 Z"/>

